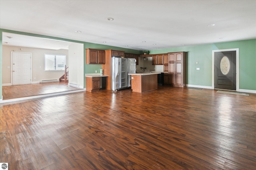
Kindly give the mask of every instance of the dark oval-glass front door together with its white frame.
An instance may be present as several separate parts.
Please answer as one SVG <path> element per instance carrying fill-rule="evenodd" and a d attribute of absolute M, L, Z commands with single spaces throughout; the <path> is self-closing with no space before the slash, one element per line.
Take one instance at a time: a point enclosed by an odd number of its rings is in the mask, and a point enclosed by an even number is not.
<path fill-rule="evenodd" d="M 239 49 L 212 50 L 212 89 L 239 91 Z"/>

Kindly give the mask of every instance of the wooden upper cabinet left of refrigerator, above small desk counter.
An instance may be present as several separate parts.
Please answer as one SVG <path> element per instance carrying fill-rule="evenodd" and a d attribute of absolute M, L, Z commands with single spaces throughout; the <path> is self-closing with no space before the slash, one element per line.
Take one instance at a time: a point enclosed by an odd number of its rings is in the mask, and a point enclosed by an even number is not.
<path fill-rule="evenodd" d="M 105 51 L 86 49 L 86 64 L 105 64 Z"/>

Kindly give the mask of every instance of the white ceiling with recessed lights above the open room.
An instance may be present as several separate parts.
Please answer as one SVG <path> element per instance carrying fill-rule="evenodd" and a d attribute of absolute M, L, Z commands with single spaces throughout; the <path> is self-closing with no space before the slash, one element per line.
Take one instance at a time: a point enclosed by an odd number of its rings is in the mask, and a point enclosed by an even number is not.
<path fill-rule="evenodd" d="M 256 0 L 0 0 L 0 28 L 128 49 L 166 49 L 255 39 Z M 30 45 L 64 43 L 41 40 Z M 4 34 L 3 42 L 9 41 L 3 45 L 12 45 L 16 35 Z"/>

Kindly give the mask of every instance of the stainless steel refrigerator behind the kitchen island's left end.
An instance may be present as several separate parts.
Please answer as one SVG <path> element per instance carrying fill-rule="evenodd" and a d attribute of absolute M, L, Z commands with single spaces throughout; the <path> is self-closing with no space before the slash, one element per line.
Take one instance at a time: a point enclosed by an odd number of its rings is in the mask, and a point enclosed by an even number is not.
<path fill-rule="evenodd" d="M 136 72 L 136 59 L 128 60 L 127 58 L 112 57 L 111 67 L 111 90 L 130 87 L 128 72 Z"/>

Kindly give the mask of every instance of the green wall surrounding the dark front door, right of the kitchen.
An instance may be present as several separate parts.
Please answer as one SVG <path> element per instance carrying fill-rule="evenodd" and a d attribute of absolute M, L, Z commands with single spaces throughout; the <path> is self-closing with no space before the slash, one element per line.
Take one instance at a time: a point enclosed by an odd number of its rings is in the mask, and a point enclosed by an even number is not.
<path fill-rule="evenodd" d="M 158 49 L 150 54 L 188 52 L 187 84 L 212 86 L 212 50 L 236 48 L 239 49 L 239 89 L 256 90 L 256 39 Z"/>

